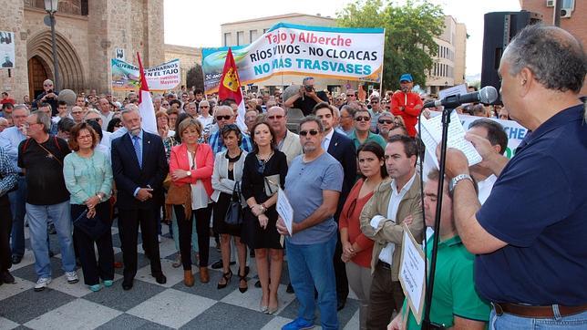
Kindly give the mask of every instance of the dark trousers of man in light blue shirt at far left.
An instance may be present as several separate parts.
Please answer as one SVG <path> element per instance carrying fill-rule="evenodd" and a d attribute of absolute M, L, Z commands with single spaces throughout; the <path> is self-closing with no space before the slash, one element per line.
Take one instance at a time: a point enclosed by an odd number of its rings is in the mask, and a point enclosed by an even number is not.
<path fill-rule="evenodd" d="M 26 179 L 24 176 L 18 176 L 18 189 L 8 194 L 10 199 L 10 211 L 12 211 L 12 232 L 10 237 L 10 250 L 12 255 L 22 257 L 25 254 L 25 196 L 26 196 Z"/>

